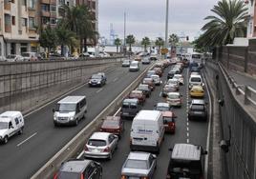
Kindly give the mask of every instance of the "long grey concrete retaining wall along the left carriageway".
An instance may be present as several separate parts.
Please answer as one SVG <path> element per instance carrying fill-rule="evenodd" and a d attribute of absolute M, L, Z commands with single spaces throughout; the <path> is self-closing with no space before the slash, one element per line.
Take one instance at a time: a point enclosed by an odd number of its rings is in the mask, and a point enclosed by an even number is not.
<path fill-rule="evenodd" d="M 119 66 L 120 61 L 112 58 L 2 63 L 0 112 L 14 109 L 26 113 L 86 83 L 92 73 Z"/>

